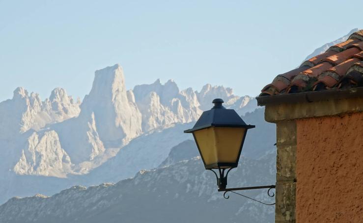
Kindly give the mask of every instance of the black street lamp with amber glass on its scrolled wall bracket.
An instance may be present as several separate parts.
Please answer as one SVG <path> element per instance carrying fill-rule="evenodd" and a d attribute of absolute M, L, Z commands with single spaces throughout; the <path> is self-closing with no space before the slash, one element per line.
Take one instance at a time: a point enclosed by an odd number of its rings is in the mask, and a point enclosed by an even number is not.
<path fill-rule="evenodd" d="M 224 191 L 225 195 L 228 191 L 269 188 L 268 195 L 273 197 L 269 192 L 275 185 L 226 188 L 229 171 L 238 166 L 247 130 L 255 126 L 246 124 L 233 109 L 223 107 L 223 102 L 214 99 L 212 109 L 203 112 L 194 127 L 184 133 L 193 134 L 205 169 L 217 177 L 218 191 Z M 218 170 L 219 176 L 214 170 Z"/>

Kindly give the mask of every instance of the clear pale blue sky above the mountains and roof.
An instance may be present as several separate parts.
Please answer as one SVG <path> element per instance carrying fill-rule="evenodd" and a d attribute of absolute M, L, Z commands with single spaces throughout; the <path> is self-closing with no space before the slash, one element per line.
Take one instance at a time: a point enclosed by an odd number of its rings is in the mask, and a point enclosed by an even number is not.
<path fill-rule="evenodd" d="M 257 96 L 323 44 L 363 28 L 362 0 L 0 0 L 0 101 L 16 87 L 81 99 L 120 64 L 127 89 L 173 79 Z"/>

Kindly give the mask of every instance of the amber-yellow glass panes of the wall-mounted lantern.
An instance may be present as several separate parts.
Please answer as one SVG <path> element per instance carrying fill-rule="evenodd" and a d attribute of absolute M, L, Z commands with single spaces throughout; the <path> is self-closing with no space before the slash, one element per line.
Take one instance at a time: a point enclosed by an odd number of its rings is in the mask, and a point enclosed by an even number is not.
<path fill-rule="evenodd" d="M 194 132 L 204 164 L 236 163 L 246 128 L 209 127 Z M 228 168 L 228 167 L 221 167 Z"/>

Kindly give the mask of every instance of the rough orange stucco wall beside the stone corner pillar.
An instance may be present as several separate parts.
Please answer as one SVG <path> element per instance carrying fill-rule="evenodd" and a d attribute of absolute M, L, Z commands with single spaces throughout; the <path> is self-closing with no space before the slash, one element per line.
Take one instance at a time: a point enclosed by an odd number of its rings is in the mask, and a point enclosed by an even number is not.
<path fill-rule="evenodd" d="M 363 223 L 363 113 L 297 121 L 296 222 Z"/>

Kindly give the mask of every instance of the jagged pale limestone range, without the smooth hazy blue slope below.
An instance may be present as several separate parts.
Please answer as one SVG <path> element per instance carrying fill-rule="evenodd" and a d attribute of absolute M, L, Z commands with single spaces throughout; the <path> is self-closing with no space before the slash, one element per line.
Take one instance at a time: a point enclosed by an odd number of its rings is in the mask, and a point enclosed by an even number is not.
<path fill-rule="evenodd" d="M 227 105 L 241 114 L 256 107 L 251 97 L 235 96 L 222 86 L 206 85 L 198 93 L 190 88 L 180 91 L 172 80 L 165 84 L 157 80 L 126 91 L 118 64 L 95 72 L 81 105 L 60 88 L 45 101 L 17 88 L 13 99 L 0 103 L 0 148 L 12 150 L 4 152 L 9 162 L 0 173 L 9 169 L 20 175 L 56 177 L 88 173 L 142 134 L 196 121 L 202 112 L 199 100 L 205 103 L 224 95 L 233 99 Z"/>

